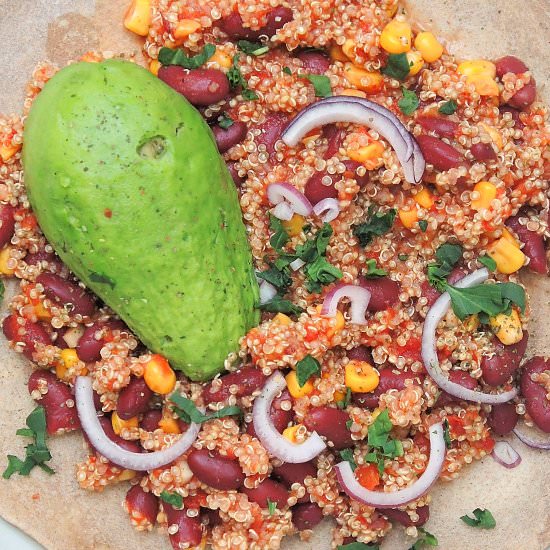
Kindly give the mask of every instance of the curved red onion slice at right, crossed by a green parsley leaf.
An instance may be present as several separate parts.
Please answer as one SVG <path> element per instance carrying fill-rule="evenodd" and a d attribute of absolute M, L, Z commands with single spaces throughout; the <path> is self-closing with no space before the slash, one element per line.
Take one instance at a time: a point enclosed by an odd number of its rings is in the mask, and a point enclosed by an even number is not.
<path fill-rule="evenodd" d="M 468 288 L 477 284 L 481 284 L 487 280 L 489 272 L 487 269 L 478 269 L 470 275 L 466 275 L 463 279 L 458 281 L 455 286 L 459 288 Z M 437 325 L 441 322 L 441 319 L 445 317 L 449 307 L 451 305 L 451 297 L 448 292 L 444 292 L 434 303 L 434 305 L 428 311 L 426 320 L 424 321 L 424 328 L 422 330 L 422 360 L 426 371 L 433 378 L 434 382 L 440 387 L 440 389 L 446 391 L 448 394 L 463 399 L 464 401 L 475 401 L 476 403 L 506 403 L 517 395 L 517 389 L 513 389 L 504 393 L 492 394 L 483 393 L 475 390 L 470 390 L 451 382 L 445 373 L 439 366 L 439 358 L 437 356 L 436 347 L 436 330 Z"/>

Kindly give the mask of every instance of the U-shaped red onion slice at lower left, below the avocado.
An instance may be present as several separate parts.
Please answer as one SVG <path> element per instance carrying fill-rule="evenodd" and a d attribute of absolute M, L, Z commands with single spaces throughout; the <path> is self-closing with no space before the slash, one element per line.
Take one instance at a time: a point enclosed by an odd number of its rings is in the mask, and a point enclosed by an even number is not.
<path fill-rule="evenodd" d="M 187 431 L 171 447 L 153 453 L 134 453 L 122 449 L 105 435 L 94 406 L 91 378 L 77 376 L 75 401 L 82 429 L 88 436 L 92 447 L 113 464 L 128 470 L 144 472 L 170 464 L 191 447 L 200 430 L 199 424 L 191 423 Z"/>

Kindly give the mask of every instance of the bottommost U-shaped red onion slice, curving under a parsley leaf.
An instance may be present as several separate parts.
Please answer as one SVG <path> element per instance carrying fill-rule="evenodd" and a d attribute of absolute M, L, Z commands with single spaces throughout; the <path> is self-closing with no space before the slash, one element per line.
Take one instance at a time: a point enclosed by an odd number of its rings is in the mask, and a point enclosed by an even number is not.
<path fill-rule="evenodd" d="M 445 452 L 443 425 L 441 423 L 434 424 L 430 427 L 428 465 L 424 473 L 409 487 L 391 493 L 370 491 L 357 481 L 351 465 L 347 461 L 340 462 L 335 466 L 336 476 L 342 489 L 351 498 L 375 508 L 396 508 L 420 498 L 430 489 L 439 477 L 439 472 L 441 472 L 445 461 Z"/>

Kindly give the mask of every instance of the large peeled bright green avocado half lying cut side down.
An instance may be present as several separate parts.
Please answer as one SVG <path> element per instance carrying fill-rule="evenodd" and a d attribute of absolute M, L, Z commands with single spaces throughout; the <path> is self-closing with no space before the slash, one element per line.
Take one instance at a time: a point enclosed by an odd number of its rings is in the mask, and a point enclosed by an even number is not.
<path fill-rule="evenodd" d="M 76 63 L 36 98 L 23 165 L 40 227 L 86 286 L 192 380 L 222 371 L 259 321 L 259 291 L 200 114 L 133 63 Z"/>

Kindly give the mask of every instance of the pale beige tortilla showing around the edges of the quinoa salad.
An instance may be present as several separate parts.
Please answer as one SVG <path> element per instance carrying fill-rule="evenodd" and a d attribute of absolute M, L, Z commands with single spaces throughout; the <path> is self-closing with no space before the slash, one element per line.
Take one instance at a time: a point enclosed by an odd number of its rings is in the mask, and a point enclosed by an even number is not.
<path fill-rule="evenodd" d="M 64 64 L 90 49 L 138 53 L 139 41 L 121 25 L 127 0 L 0 0 L 0 111 L 18 112 L 25 82 L 40 60 Z M 450 50 L 463 57 L 521 57 L 534 72 L 539 90 L 550 73 L 548 0 L 418 0 L 408 11 L 419 25 L 433 30 Z M 526 273 L 533 317 L 529 354 L 550 355 L 550 280 Z M 6 293 L 6 303 L 14 285 Z M 10 292 L 11 290 L 11 292 Z M 34 407 L 26 381 L 30 365 L 9 351 L 0 337 L 0 468 L 8 453 L 23 454 L 15 436 Z M 0 515 L 49 550 L 160 550 L 170 548 L 165 533 L 136 532 L 122 509 L 127 485 L 96 494 L 81 490 L 74 465 L 85 458 L 80 434 L 49 442 L 54 477 L 38 468 L 28 478 L 0 480 Z M 550 547 L 549 455 L 514 446 L 523 462 L 506 470 L 490 457 L 463 470 L 452 483 L 440 482 L 432 491 L 431 519 L 426 528 L 442 550 L 545 550 Z M 488 508 L 497 521 L 491 531 L 467 527 L 459 517 L 474 508 Z M 313 539 L 288 539 L 284 548 L 330 548 L 327 522 Z M 413 540 L 396 527 L 383 549 L 407 549 Z"/>

